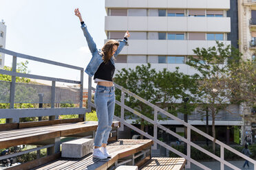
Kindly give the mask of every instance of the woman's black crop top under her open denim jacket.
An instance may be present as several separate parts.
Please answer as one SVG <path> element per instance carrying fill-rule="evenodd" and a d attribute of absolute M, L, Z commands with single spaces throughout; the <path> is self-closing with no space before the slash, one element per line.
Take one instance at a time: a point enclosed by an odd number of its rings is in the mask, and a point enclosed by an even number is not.
<path fill-rule="evenodd" d="M 107 80 L 112 82 L 112 78 L 115 72 L 115 66 L 109 60 L 107 63 L 103 62 L 98 67 L 98 70 L 94 74 L 95 79 Z"/>

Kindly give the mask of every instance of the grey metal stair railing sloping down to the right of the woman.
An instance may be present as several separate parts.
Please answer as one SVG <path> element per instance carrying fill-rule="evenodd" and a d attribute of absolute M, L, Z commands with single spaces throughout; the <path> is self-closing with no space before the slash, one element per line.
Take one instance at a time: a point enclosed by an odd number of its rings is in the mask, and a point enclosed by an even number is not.
<path fill-rule="evenodd" d="M 95 105 L 92 103 L 92 90 L 95 90 L 95 88 L 92 87 L 92 77 L 89 77 L 89 87 L 88 87 L 88 107 L 95 108 Z M 245 156 L 244 154 L 240 153 L 239 151 L 233 149 L 232 147 L 222 143 L 221 141 L 215 140 L 212 136 L 210 136 L 209 134 L 206 134 L 204 132 L 202 132 L 201 130 L 198 130 L 196 127 L 193 127 L 192 125 L 190 125 L 189 123 L 186 123 L 185 121 L 183 121 L 182 119 L 179 119 L 178 117 L 173 116 L 173 114 L 170 114 L 169 112 L 163 110 L 162 108 L 159 108 L 158 106 L 155 106 L 153 104 L 151 104 L 149 101 L 146 101 L 145 99 L 142 99 L 141 97 L 139 97 L 138 95 L 135 95 L 134 93 L 131 93 L 129 90 L 123 88 L 122 86 L 119 86 L 118 84 L 115 84 L 115 87 L 118 88 L 119 90 L 121 90 L 121 101 L 117 101 L 116 100 L 116 104 L 118 104 L 121 107 L 120 110 L 120 117 L 116 117 L 114 116 L 114 119 L 116 119 L 117 121 L 120 121 L 121 126 L 120 126 L 120 130 L 124 129 L 124 125 L 126 125 L 127 127 L 131 128 L 132 130 L 138 132 L 139 134 L 142 134 L 143 136 L 151 139 L 152 141 L 154 141 L 154 145 L 153 145 L 153 149 L 156 149 L 157 144 L 161 145 L 162 147 L 165 147 L 167 149 L 169 149 L 170 151 L 172 151 L 173 153 L 177 154 L 178 156 L 181 156 L 182 158 L 185 158 L 187 160 L 187 165 L 186 168 L 190 168 L 191 167 L 191 162 L 195 165 L 197 165 L 198 167 L 202 168 L 202 169 L 209 169 L 208 167 L 206 167 L 205 165 L 202 165 L 200 162 L 194 160 L 193 158 L 191 158 L 191 146 L 195 147 L 195 149 L 198 149 L 200 151 L 202 151 L 204 154 L 207 154 L 208 156 L 211 156 L 211 158 L 214 158 L 215 160 L 220 162 L 220 169 L 224 170 L 224 165 L 231 167 L 232 169 L 239 169 L 238 167 L 235 167 L 234 165 L 232 165 L 230 162 L 227 162 L 226 160 L 224 160 L 224 149 L 227 149 L 228 151 L 233 152 L 234 154 L 236 154 L 237 156 L 240 156 L 246 160 L 248 160 L 249 162 L 252 162 L 255 169 L 256 169 L 256 161 L 253 160 L 252 158 L 249 158 L 248 156 Z M 133 108 L 130 108 L 129 106 L 125 105 L 125 94 L 134 97 L 136 99 L 138 99 L 139 101 L 141 101 L 144 104 L 147 104 L 148 106 L 151 106 L 151 108 L 154 109 L 154 119 L 149 119 L 148 117 L 146 117 L 145 115 L 141 114 L 140 112 L 134 110 Z M 145 119 L 145 121 L 148 121 L 149 123 L 153 124 L 153 136 L 151 136 L 150 134 L 147 134 L 146 132 L 138 129 L 138 127 L 135 127 L 134 125 L 131 125 L 129 123 L 127 123 L 127 121 L 125 121 L 125 110 L 128 110 L 129 112 L 132 112 L 134 114 L 136 114 L 138 117 Z M 159 123 L 158 120 L 158 114 L 159 112 L 161 112 L 162 114 L 166 115 L 167 117 L 170 117 L 171 119 L 178 121 L 179 123 L 181 123 L 182 125 L 186 126 L 187 128 L 187 138 L 184 138 L 182 136 L 180 136 L 179 134 L 176 134 L 175 132 L 169 130 L 167 127 L 164 127 L 163 125 L 161 125 Z M 186 149 L 186 155 L 182 154 L 180 151 L 174 149 L 173 147 L 167 145 L 166 143 L 163 143 L 162 141 L 158 140 L 158 133 L 157 130 L 158 128 L 164 130 L 165 132 L 167 132 L 168 134 L 171 134 L 172 136 L 175 136 L 176 138 L 179 138 L 180 140 L 184 141 L 184 143 L 187 144 L 187 149 Z M 216 156 L 215 154 L 212 154 L 210 151 L 207 151 L 206 149 L 200 147 L 199 145 L 196 145 L 195 143 L 191 142 L 191 130 L 193 130 L 194 132 L 197 132 L 198 134 L 201 134 L 202 136 L 204 136 L 205 138 L 208 138 L 210 141 L 215 141 L 215 143 L 217 145 L 220 145 L 220 157 Z"/>

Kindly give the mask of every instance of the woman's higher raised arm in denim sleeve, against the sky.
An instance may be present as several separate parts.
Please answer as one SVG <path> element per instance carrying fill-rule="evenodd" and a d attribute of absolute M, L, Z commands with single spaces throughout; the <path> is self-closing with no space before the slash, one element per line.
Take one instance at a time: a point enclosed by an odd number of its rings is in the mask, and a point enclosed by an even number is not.
<path fill-rule="evenodd" d="M 98 51 L 98 49 L 96 47 L 94 39 L 92 38 L 92 36 L 88 32 L 87 26 L 83 22 L 81 13 L 79 12 L 78 8 L 76 8 L 74 10 L 74 12 L 75 12 L 75 15 L 78 16 L 78 18 L 79 18 L 79 20 L 81 22 L 81 25 L 82 25 L 81 28 L 83 29 L 83 34 L 85 35 L 85 38 L 87 40 L 87 44 L 88 44 L 89 50 L 91 51 L 91 53 L 95 53 L 96 51 Z"/>

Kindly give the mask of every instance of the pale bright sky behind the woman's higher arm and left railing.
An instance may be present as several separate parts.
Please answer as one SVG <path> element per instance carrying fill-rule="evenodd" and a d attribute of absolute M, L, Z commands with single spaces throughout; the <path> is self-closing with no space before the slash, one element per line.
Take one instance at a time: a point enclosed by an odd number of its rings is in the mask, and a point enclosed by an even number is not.
<path fill-rule="evenodd" d="M 85 69 L 92 55 L 81 23 L 74 15 L 75 8 L 79 8 L 97 48 L 101 49 L 107 38 L 105 0 L 0 0 L 0 21 L 3 19 L 7 27 L 6 49 Z M 22 61 L 25 60 L 17 60 Z M 80 71 L 28 62 L 31 74 L 80 80 Z M 12 65 L 11 56 L 6 55 L 5 65 Z M 84 73 L 84 88 L 87 82 Z"/>

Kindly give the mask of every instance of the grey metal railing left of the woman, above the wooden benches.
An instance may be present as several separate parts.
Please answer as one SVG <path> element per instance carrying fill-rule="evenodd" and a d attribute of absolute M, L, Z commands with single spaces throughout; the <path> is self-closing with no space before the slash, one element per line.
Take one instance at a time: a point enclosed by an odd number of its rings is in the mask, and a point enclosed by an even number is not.
<path fill-rule="evenodd" d="M 0 48 L 0 53 L 5 53 L 12 56 L 12 71 L 6 71 L 0 69 L 0 74 L 3 75 L 11 75 L 12 81 L 10 82 L 10 108 L 8 109 L 0 109 L 0 119 L 6 119 L 6 123 L 16 122 L 19 123 L 19 118 L 21 117 L 43 117 L 43 116 L 50 116 L 50 120 L 58 119 L 59 115 L 62 114 L 78 114 L 79 117 L 83 117 L 85 120 L 85 108 L 83 108 L 83 73 L 84 70 L 78 66 L 72 66 L 70 64 L 63 64 L 61 62 L 54 62 L 52 60 L 45 60 L 43 58 L 36 58 L 34 56 L 28 56 L 23 53 L 17 53 L 14 51 L 10 51 L 8 49 Z M 6 56 L 7 57 L 7 56 Z M 34 60 L 36 62 L 43 62 L 46 64 L 52 64 L 56 66 L 63 66 L 69 69 L 75 69 L 80 71 L 80 81 L 74 80 L 66 80 L 61 78 L 54 78 L 54 77 L 45 77 L 41 75 L 32 75 L 32 74 L 25 74 L 25 73 L 17 73 L 17 58 L 23 58 L 27 60 Z M 26 77 L 32 78 L 36 80 L 48 80 L 52 82 L 51 93 L 50 93 L 50 105 L 51 108 L 29 108 L 29 109 L 14 109 L 14 96 L 15 96 L 15 88 L 17 86 L 16 77 Z M 55 108 L 55 96 L 56 96 L 56 82 L 65 82 L 65 83 L 72 83 L 72 84 L 79 84 L 79 108 Z"/>

